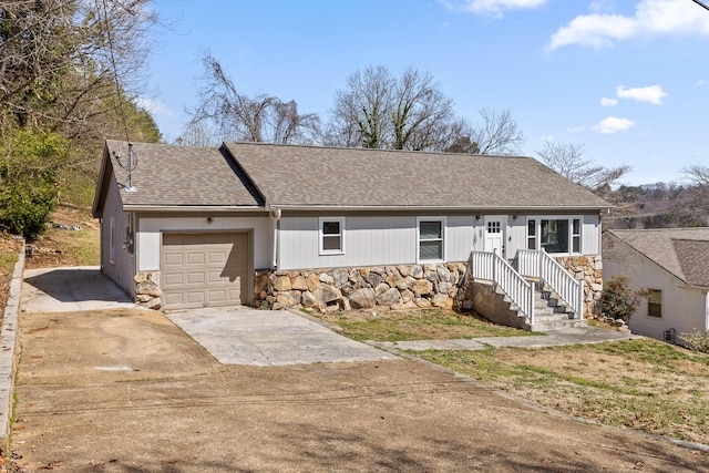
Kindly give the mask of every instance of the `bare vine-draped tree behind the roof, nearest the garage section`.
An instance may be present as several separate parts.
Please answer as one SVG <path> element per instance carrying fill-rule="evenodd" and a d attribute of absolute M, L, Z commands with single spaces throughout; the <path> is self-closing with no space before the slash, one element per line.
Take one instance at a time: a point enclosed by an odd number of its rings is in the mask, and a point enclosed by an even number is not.
<path fill-rule="evenodd" d="M 317 114 L 300 114 L 295 101 L 239 92 L 219 61 L 202 59 L 205 69 L 199 104 L 191 112 L 191 125 L 214 130 L 220 140 L 271 143 L 312 143 L 319 136 Z"/>

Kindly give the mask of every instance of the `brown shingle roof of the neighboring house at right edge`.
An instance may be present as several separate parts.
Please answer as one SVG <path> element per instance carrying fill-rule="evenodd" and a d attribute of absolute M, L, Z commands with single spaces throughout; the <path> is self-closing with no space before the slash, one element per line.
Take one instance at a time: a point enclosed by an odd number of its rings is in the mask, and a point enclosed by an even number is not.
<path fill-rule="evenodd" d="M 709 287 L 709 228 L 606 230 L 692 286 Z"/>

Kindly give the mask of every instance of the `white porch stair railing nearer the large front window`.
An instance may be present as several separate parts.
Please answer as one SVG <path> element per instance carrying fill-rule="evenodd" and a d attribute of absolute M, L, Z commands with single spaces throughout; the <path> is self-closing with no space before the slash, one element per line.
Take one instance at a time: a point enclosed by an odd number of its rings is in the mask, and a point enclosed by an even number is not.
<path fill-rule="evenodd" d="M 575 319 L 584 318 L 584 281 L 576 280 L 562 265 L 546 254 L 534 249 L 520 249 L 517 271 L 525 277 L 540 278 L 574 311 Z"/>

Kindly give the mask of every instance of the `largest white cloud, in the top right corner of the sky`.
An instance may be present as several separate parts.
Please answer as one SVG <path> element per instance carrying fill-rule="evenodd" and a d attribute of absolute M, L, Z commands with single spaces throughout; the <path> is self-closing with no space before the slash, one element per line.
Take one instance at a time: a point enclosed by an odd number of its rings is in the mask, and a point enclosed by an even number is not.
<path fill-rule="evenodd" d="M 709 35 L 709 14 L 687 0 L 640 0 L 633 17 L 598 13 L 597 2 L 592 3 L 592 9 L 596 12 L 576 17 L 556 31 L 547 48 L 609 48 L 616 41 L 661 34 Z"/>

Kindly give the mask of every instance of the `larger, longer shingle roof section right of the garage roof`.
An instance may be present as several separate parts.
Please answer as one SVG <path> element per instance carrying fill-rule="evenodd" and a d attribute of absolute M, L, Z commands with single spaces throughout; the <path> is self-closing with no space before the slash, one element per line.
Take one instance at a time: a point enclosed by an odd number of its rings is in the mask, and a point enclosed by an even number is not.
<path fill-rule="evenodd" d="M 225 143 L 274 206 L 607 208 L 531 157 Z"/>

